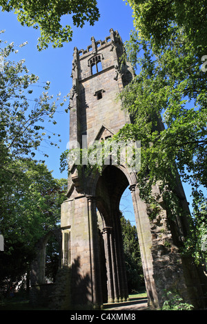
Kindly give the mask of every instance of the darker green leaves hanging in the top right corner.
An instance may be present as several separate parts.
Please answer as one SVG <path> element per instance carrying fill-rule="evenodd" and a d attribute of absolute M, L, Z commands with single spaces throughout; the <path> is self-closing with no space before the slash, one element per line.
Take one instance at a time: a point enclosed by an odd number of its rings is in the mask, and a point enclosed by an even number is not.
<path fill-rule="evenodd" d="M 152 39 L 157 48 L 165 48 L 174 26 L 187 35 L 197 48 L 199 58 L 206 54 L 206 1 L 205 0 L 124 0 L 133 10 L 134 26 L 146 41 Z M 173 24 L 173 25 L 172 25 Z"/>

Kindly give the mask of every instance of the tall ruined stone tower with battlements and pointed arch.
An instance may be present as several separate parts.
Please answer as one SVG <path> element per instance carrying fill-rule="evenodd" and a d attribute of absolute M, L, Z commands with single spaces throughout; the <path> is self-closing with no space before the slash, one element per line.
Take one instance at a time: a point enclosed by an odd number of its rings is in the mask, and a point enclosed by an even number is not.
<path fill-rule="evenodd" d="M 130 116 L 121 110 L 117 93 L 133 77 L 130 64 L 120 65 L 124 45 L 110 30 L 104 41 L 86 50 L 74 49 L 70 92 L 70 148 L 88 147 L 116 134 Z M 195 267 L 179 253 L 185 220 L 168 222 L 164 208 L 151 220 L 148 206 L 139 198 L 136 173 L 126 165 L 104 165 L 103 172 L 86 174 L 73 165 L 68 177 L 68 199 L 61 206 L 62 265 L 71 268 L 73 305 L 125 301 L 128 298 L 119 201 L 130 186 L 149 305 L 162 304 L 164 289 L 178 287 L 186 300 L 201 294 Z M 159 194 L 159 187 L 153 188 Z M 188 210 L 178 185 L 181 205 Z M 195 300 L 193 301 L 194 303 Z"/>

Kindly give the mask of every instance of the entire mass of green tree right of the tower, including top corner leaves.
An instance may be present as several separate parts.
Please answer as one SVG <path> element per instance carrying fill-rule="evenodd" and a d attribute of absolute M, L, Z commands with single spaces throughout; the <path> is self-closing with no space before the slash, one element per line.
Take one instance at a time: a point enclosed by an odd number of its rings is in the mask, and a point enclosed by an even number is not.
<path fill-rule="evenodd" d="M 197 254 L 201 247 L 198 214 L 203 215 L 202 235 L 207 233 L 206 209 L 198 213 L 206 201 L 207 185 L 205 2 L 128 1 L 135 31 L 126 43 L 126 56 L 138 74 L 119 98 L 135 124 L 115 136 L 141 141 L 137 176 L 146 201 L 152 199 L 152 184 L 159 181 L 171 216 L 182 214 L 175 192 L 177 175 L 191 185 Z"/>

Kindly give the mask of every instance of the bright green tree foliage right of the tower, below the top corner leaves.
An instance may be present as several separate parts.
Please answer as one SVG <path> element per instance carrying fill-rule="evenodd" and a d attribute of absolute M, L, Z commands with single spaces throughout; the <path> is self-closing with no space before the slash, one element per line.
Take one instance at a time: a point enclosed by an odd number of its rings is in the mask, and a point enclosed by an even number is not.
<path fill-rule="evenodd" d="M 127 125 L 119 138 L 141 141 L 139 178 L 148 169 L 149 187 L 157 180 L 163 181 L 163 187 L 173 185 L 177 170 L 184 181 L 206 185 L 206 82 L 193 44 L 182 40 L 185 37 L 176 28 L 174 32 L 176 41 L 171 39 L 163 51 L 153 53 L 152 43 L 136 32 L 127 44 L 129 59 L 137 45 L 144 57 L 137 58 L 141 71 L 120 95 L 136 125 Z"/>

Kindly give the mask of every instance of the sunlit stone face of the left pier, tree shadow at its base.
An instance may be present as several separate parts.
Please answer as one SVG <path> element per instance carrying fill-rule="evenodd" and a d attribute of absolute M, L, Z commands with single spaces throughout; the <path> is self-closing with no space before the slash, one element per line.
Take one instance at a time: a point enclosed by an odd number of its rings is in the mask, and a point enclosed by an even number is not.
<path fill-rule="evenodd" d="M 71 292 L 72 303 L 86 304 L 92 296 L 88 269 L 90 259 L 90 234 L 88 227 L 88 199 L 81 196 L 62 205 L 61 228 L 70 228 Z"/>

